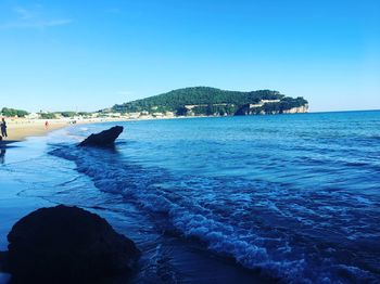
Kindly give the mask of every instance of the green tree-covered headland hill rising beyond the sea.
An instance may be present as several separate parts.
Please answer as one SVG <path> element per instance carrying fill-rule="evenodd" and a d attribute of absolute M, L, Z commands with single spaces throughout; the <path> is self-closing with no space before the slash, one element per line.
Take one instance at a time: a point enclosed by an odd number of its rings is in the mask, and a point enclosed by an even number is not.
<path fill-rule="evenodd" d="M 166 113 L 176 115 L 251 115 L 284 113 L 307 106 L 303 98 L 292 99 L 278 91 L 225 91 L 210 87 L 193 87 L 141 99 L 112 107 L 117 113 Z"/>

